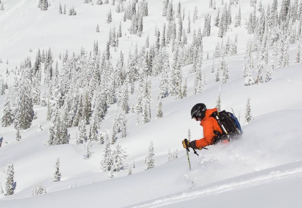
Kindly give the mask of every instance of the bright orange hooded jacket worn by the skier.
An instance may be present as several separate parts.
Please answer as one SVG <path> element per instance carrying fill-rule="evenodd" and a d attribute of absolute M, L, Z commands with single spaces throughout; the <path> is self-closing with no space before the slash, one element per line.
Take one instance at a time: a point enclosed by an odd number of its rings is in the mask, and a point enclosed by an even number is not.
<path fill-rule="evenodd" d="M 204 138 L 196 140 L 195 144 L 198 149 L 213 144 L 213 139 L 217 136 L 214 134 L 214 131 L 222 134 L 217 120 L 214 117 L 210 117 L 215 111 L 217 111 L 217 108 L 207 109 L 204 119 L 200 122 L 200 126 L 204 128 Z"/>

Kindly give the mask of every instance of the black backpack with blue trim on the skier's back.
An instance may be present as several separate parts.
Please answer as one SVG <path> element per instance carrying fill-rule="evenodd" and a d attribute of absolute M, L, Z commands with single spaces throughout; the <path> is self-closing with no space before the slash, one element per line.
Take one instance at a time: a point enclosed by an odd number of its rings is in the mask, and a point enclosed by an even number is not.
<path fill-rule="evenodd" d="M 220 132 L 214 132 L 216 137 L 214 137 L 214 144 L 222 140 L 234 140 L 241 138 L 243 131 L 241 129 L 238 119 L 233 115 L 233 113 L 227 112 L 225 110 L 219 113 L 214 112 L 212 115 L 218 122 L 222 134 Z"/>

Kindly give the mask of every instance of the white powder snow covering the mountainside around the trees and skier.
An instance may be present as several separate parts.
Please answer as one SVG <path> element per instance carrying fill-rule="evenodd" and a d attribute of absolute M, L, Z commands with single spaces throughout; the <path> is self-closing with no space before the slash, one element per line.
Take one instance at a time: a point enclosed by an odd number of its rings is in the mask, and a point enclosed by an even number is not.
<path fill-rule="evenodd" d="M 128 4 L 128 0 L 125 6 Z M 210 13 L 213 18 L 217 10 L 208 9 L 208 1 L 182 0 L 185 15 L 192 17 L 194 6 L 198 6 L 198 20 L 191 21 L 191 31 L 198 26 L 203 29 L 204 15 Z M 4 197 L 0 194 L 1 207 L 300 207 L 302 187 L 302 84 L 301 65 L 294 64 L 296 44 L 289 47 L 290 67 L 274 69 L 272 79 L 259 85 L 245 86 L 241 76 L 244 64 L 246 42 L 252 38 L 244 28 L 245 18 L 253 11 L 249 1 L 239 1 L 242 11 L 242 27 L 228 31 L 224 39 L 234 39 L 238 34 L 237 55 L 227 56 L 230 79 L 226 84 L 214 82 L 215 73 L 210 73 L 213 59 L 203 61 L 202 73 L 206 73 L 207 86 L 203 92 L 192 95 L 194 74 L 189 75 L 191 66 L 182 68 L 183 76 L 188 75 L 188 96 L 181 100 L 175 97 L 162 99 L 163 116 L 154 119 L 156 100 L 159 92 L 160 76 L 152 77 L 151 104 L 152 122 L 136 126 L 133 113 L 127 114 L 128 135 L 118 136 L 117 144 L 126 148 L 128 166 L 115 177 L 108 178 L 109 172 L 101 172 L 100 161 L 103 145 L 93 142 L 92 158 L 83 159 L 84 146 L 76 145 L 77 127 L 68 129 L 70 144 L 44 147 L 47 132 L 51 125 L 46 121 L 46 107 L 34 106 L 38 118 L 31 128 L 21 130 L 22 140 L 15 142 L 13 125 L 1 127 L 2 147 L 0 148 L 0 181 L 4 188 L 5 173 L 8 160 L 14 163 L 15 194 Z M 281 1 L 278 1 L 280 5 Z M 10 0 L 5 2 L 5 10 L 0 11 L 0 73 L 9 85 L 13 84 L 13 74 L 5 76 L 5 70 L 18 66 L 25 57 L 31 56 L 33 63 L 37 49 L 51 47 L 55 61 L 59 52 L 76 54 L 81 46 L 86 50 L 92 48 L 94 40 L 98 40 L 101 51 L 104 50 L 110 27 L 118 27 L 123 13 L 116 13 L 115 7 L 108 5 L 83 4 L 80 0 L 65 0 L 66 9 L 74 5 L 77 15 L 58 15 L 59 1 L 51 1 L 48 11 L 40 11 L 36 0 Z M 155 26 L 162 31 L 165 17 L 161 16 L 162 1 L 152 0 L 149 3 L 149 15 L 143 18 L 144 33 L 137 37 L 127 32 L 131 21 L 122 21 L 123 37 L 119 39 L 118 52 L 113 53 L 116 60 L 122 50 L 127 61 L 128 50 L 134 51 L 135 44 L 140 49 L 150 36 L 153 43 Z M 266 7 L 270 2 L 263 2 Z M 206 6 L 204 6 L 206 5 Z M 216 2 L 221 8 L 220 1 Z M 257 3 L 258 5 L 258 3 Z M 176 2 L 174 2 L 176 8 Z M 111 8 L 113 22 L 105 23 L 106 14 Z M 239 7 L 232 6 L 232 17 Z M 187 16 L 186 16 L 187 17 Z M 187 28 L 185 17 L 184 28 Z M 232 19 L 232 25 L 234 20 Z M 95 32 L 97 23 L 100 33 Z M 126 36 L 125 33 L 127 33 Z M 204 57 L 214 52 L 217 42 L 218 28 L 211 28 L 211 36 L 203 39 Z M 129 36 L 129 38 L 128 38 Z M 188 34 L 191 42 L 192 32 Z M 30 53 L 29 49 L 33 48 Z M 272 51 L 269 51 L 271 54 Z M 172 53 L 170 53 L 172 57 Z M 8 58 L 9 64 L 5 61 Z M 215 59 L 215 69 L 219 58 Z M 126 62 L 125 62 L 126 63 Z M 59 61 L 61 65 L 61 61 Z M 255 61 L 255 66 L 257 61 Z M 265 65 L 264 69 L 268 65 Z M 253 76 L 255 70 L 253 70 Z M 288 81 L 290 80 L 290 82 Z M 136 83 L 138 85 L 138 83 Z M 42 86 L 44 88 L 45 86 Z M 137 86 L 136 86 L 137 87 Z M 244 135 L 239 141 L 229 145 L 210 146 L 202 150 L 199 158 L 190 152 L 192 171 L 188 169 L 187 156 L 181 141 L 186 138 L 191 128 L 191 140 L 202 138 L 202 129 L 191 120 L 191 107 L 203 102 L 208 108 L 214 107 L 218 89 L 221 89 L 221 109 L 231 111 L 233 108 L 243 124 L 247 97 L 251 98 L 251 110 L 254 119 L 243 127 Z M 136 104 L 137 94 L 130 96 L 129 105 Z M 0 96 L 0 116 L 5 95 Z M 100 130 L 110 130 L 116 105 L 109 107 Z M 41 123 L 42 131 L 38 131 Z M 87 126 L 89 129 L 89 126 Z M 148 152 L 150 141 L 154 143 L 155 168 L 145 170 L 143 160 Z M 6 143 L 6 141 L 8 143 Z M 168 150 L 178 149 L 178 159 L 166 163 Z M 60 158 L 60 182 L 51 182 L 53 166 L 56 158 Z M 132 175 L 127 175 L 127 168 L 135 161 Z M 41 183 L 47 188 L 47 194 L 31 197 L 35 184 Z M 73 188 L 69 188 L 70 184 Z M 75 184 L 77 187 L 75 188 Z M 14 197 L 14 200 L 12 200 Z"/>

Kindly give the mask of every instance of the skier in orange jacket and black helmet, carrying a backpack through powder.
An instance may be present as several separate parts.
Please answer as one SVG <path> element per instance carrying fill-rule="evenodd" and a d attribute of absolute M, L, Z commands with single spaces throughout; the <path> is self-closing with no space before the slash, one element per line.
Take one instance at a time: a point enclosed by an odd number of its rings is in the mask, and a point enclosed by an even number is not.
<path fill-rule="evenodd" d="M 237 126 L 236 130 L 233 131 L 232 129 L 227 128 L 229 132 L 225 133 L 224 131 L 223 133 L 223 128 L 220 126 L 220 124 L 217 121 L 218 114 L 221 114 L 220 116 L 226 116 L 232 118 L 226 120 L 227 122 L 234 123 L 234 126 L 235 127 Z M 217 118 L 215 118 L 216 116 Z M 231 140 L 230 135 L 232 136 L 232 138 L 236 138 L 234 137 L 235 135 L 242 134 L 240 124 L 232 113 L 226 111 L 222 111 L 218 113 L 217 108 L 207 109 L 206 105 L 203 103 L 198 103 L 192 107 L 191 118 L 194 119 L 195 121 L 200 121 L 200 126 L 203 126 L 204 129 L 204 138 L 194 141 L 188 141 L 187 139 L 185 139 L 182 141 L 184 148 L 191 147 L 193 150 L 194 149 L 201 150 L 203 147 L 217 144 L 218 142 L 224 144 L 229 143 L 229 141 Z M 226 126 L 227 123 L 224 123 L 224 125 Z"/>

